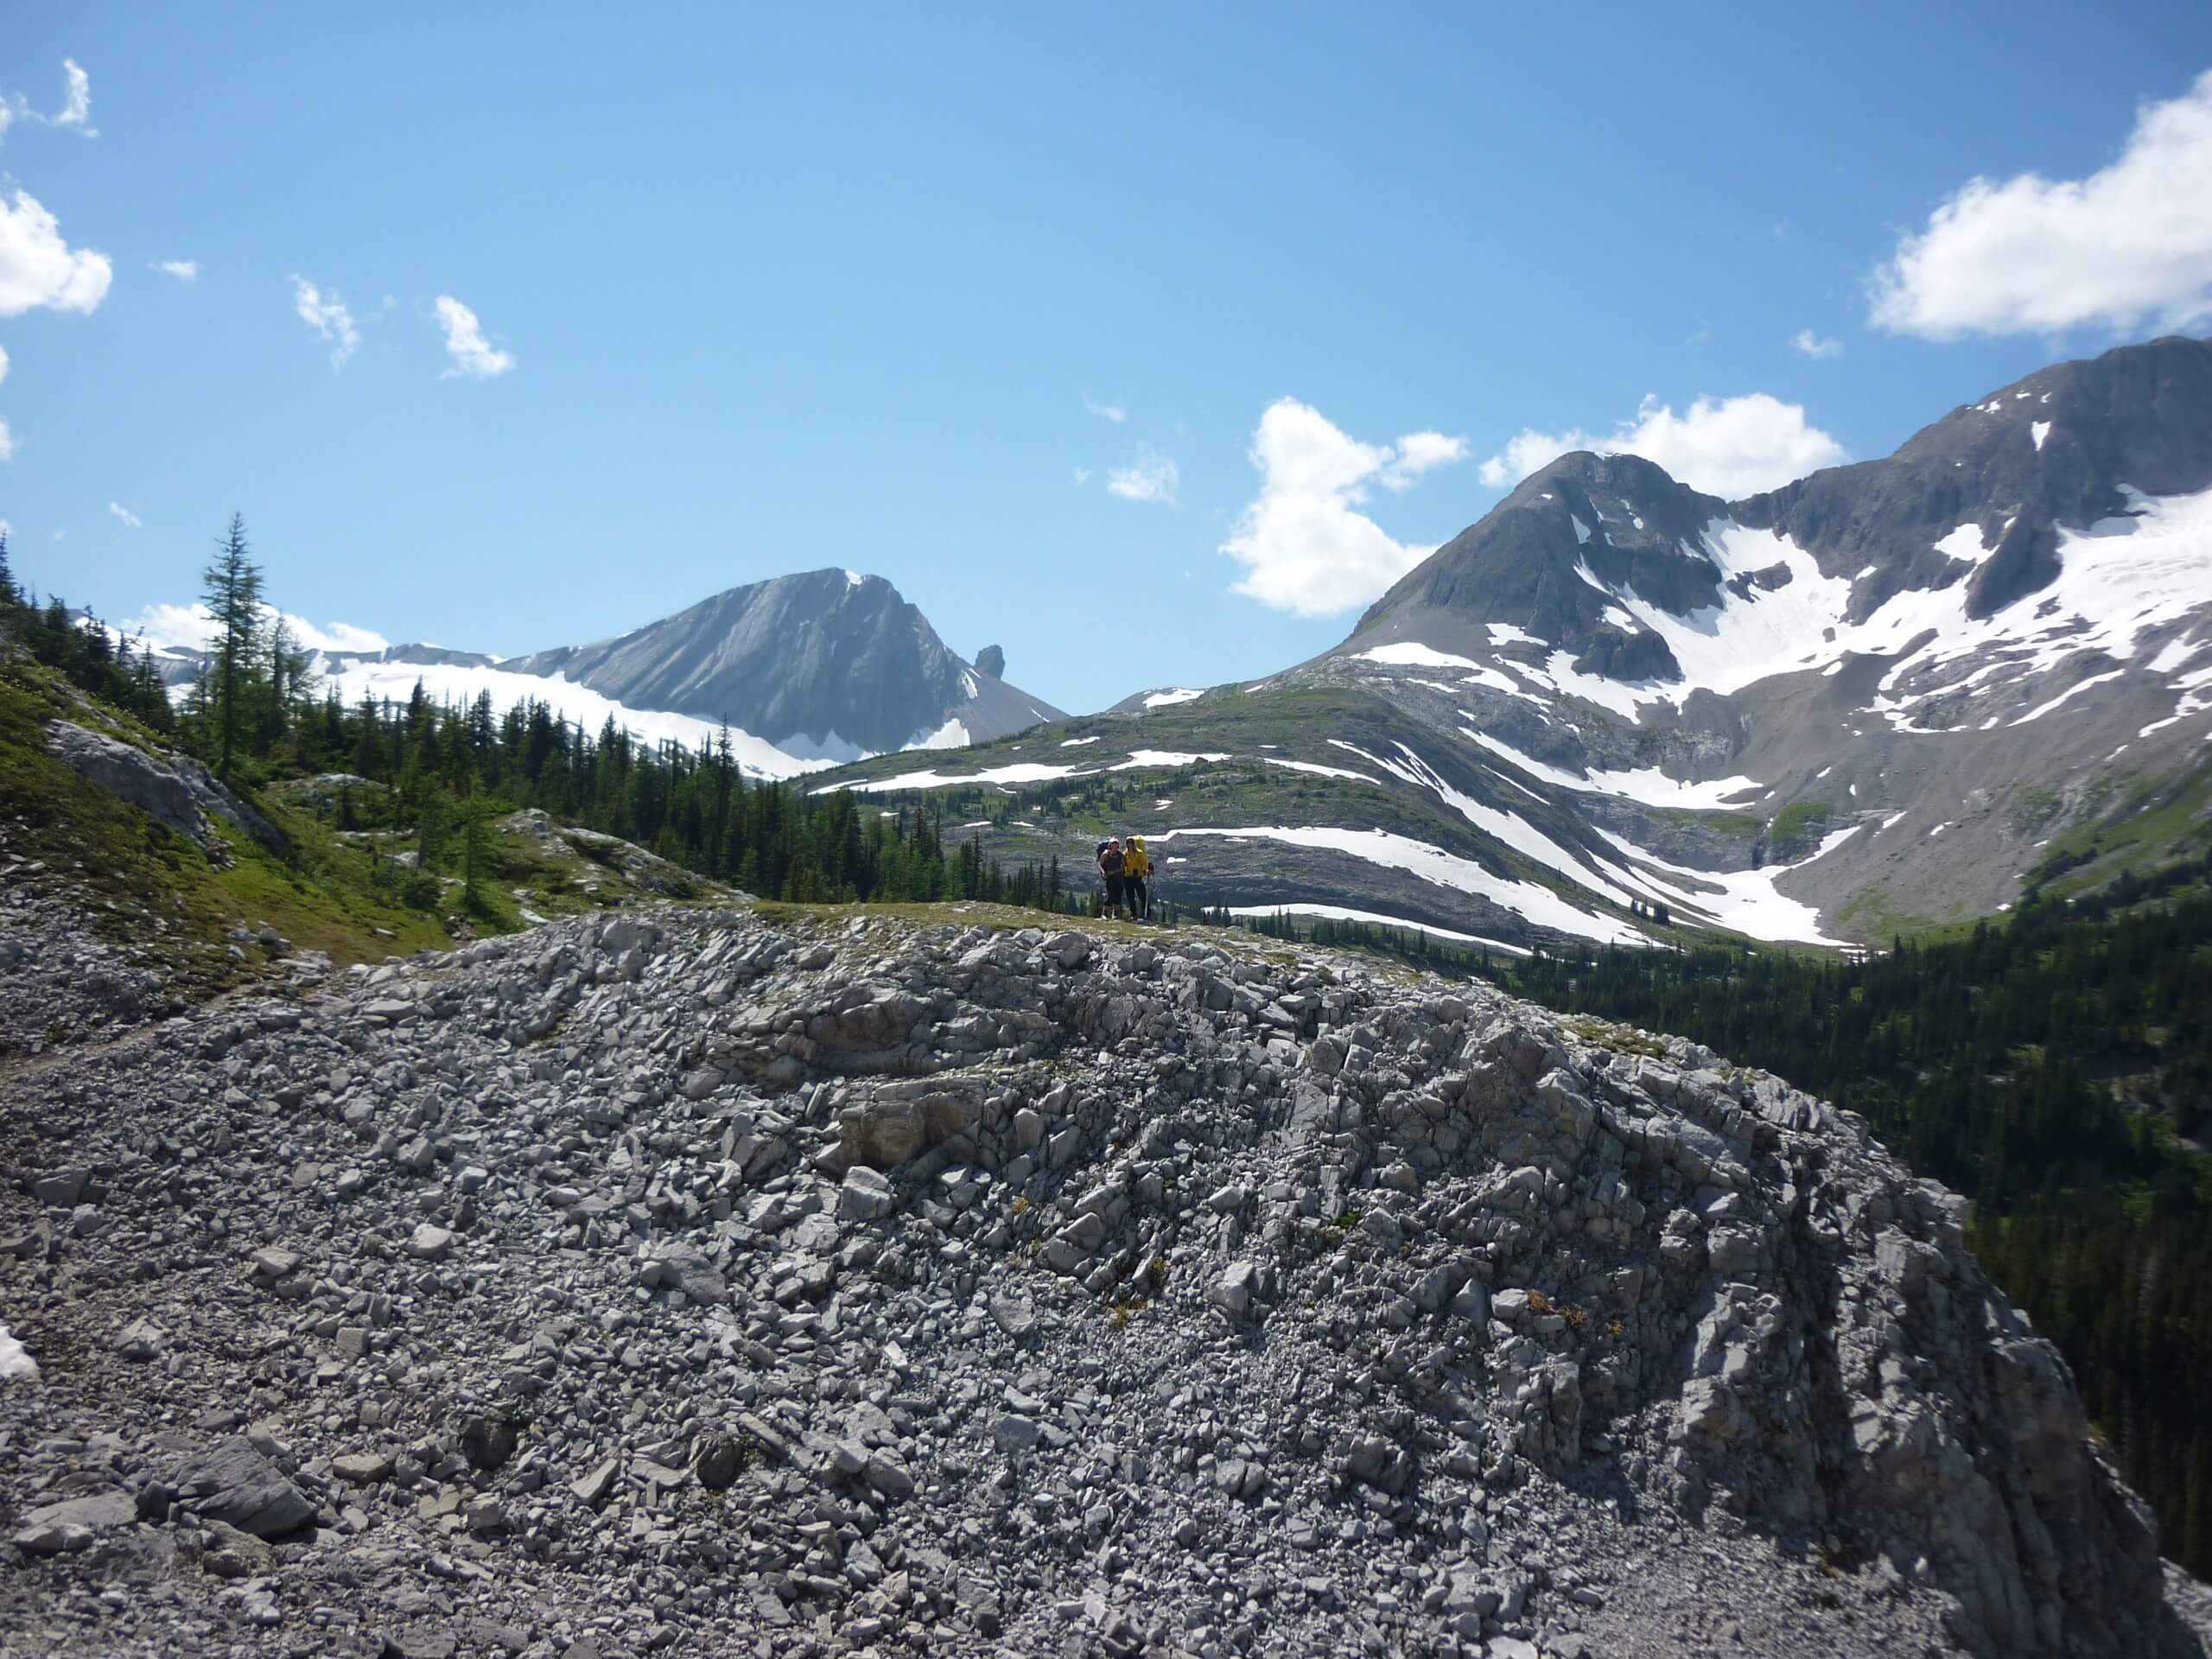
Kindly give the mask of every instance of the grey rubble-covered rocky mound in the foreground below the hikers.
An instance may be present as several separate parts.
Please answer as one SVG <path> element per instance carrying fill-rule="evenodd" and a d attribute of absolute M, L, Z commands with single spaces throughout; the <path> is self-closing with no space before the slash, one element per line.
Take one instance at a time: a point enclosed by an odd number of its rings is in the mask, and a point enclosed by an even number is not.
<path fill-rule="evenodd" d="M 1865 1124 L 1360 958 L 593 918 L 0 1137 L 11 1652 L 2203 1652 Z"/>

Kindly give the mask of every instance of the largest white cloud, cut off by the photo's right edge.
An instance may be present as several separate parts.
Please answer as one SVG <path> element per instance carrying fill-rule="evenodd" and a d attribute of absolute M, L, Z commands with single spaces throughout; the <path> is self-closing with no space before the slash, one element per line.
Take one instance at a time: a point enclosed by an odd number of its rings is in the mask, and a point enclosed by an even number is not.
<path fill-rule="evenodd" d="M 2115 332 L 2212 319 L 2212 71 L 2135 115 L 2086 179 L 1969 179 L 1874 274 L 1874 325 L 1960 334 Z"/>

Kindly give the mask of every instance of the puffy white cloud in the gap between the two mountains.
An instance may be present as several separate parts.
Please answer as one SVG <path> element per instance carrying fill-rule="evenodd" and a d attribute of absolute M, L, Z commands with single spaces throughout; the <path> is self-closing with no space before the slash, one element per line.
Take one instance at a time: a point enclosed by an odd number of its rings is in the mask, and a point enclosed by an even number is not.
<path fill-rule="evenodd" d="M 1398 491 L 1420 473 L 1467 456 L 1462 438 L 1413 431 L 1396 445 L 1365 445 L 1318 409 L 1276 398 L 1252 434 L 1259 495 L 1221 544 L 1243 566 L 1234 593 L 1329 617 L 1367 604 L 1436 549 L 1394 540 L 1360 511 L 1369 484 Z"/>

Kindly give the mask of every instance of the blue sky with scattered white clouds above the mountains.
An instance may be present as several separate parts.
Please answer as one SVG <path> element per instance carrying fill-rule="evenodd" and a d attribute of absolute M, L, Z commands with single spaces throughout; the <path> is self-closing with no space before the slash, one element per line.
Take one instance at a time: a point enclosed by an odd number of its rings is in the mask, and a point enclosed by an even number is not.
<path fill-rule="evenodd" d="M 1725 493 L 2212 314 L 2203 4 L 635 13 L 13 9 L 18 573 L 131 617 L 237 507 L 285 611 L 520 653 L 843 564 L 1084 710 L 1646 396 Z"/>

